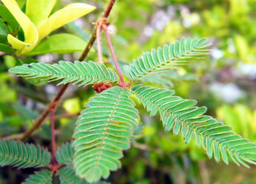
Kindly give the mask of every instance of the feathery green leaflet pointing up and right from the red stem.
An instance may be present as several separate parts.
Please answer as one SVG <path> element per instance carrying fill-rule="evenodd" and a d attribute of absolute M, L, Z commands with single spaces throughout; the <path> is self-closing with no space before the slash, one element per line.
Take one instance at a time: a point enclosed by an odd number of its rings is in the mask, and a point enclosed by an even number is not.
<path fill-rule="evenodd" d="M 204 48 L 211 45 L 206 43 L 206 38 L 181 38 L 180 41 L 171 43 L 169 46 L 158 47 L 150 52 L 143 52 L 141 57 L 134 59 L 132 64 L 125 65 L 125 73 L 130 80 L 138 80 L 150 75 L 163 73 L 167 69 L 175 69 L 175 65 L 181 65 L 199 55 L 209 52 Z"/>

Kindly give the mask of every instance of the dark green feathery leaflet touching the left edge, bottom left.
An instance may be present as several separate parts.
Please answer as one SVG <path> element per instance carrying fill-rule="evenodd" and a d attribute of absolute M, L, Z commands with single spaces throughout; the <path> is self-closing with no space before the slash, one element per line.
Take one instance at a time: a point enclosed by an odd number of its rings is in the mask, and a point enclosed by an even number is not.
<path fill-rule="evenodd" d="M 0 141 L 0 166 L 43 167 L 50 161 L 51 154 L 38 145 L 35 147 L 20 141 Z"/>

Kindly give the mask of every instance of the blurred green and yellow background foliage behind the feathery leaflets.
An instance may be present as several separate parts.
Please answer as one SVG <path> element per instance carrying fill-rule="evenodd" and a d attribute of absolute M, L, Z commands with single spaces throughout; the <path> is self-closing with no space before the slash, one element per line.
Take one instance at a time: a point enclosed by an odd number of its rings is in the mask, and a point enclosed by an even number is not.
<path fill-rule="evenodd" d="M 24 0 L 17 0 L 20 6 Z M 57 29 L 87 40 L 104 10 L 106 0 L 58 0 L 55 11 L 71 2 L 97 7 L 84 18 Z M 143 83 L 174 89 L 177 96 L 196 99 L 207 106 L 207 115 L 233 127 L 233 131 L 256 143 L 256 1 L 255 0 L 118 0 L 111 12 L 111 39 L 120 63 L 132 62 L 143 51 L 169 44 L 185 37 L 208 37 L 212 42 L 209 56 L 182 69 L 171 70 Z M 1 30 L 0 30 L 1 31 Z M 0 32 L 0 35 L 5 33 Z M 104 62 L 112 65 L 102 34 Z M 81 53 L 49 53 L 20 57 L 24 63 L 39 60 L 57 63 L 74 61 Z M 0 53 L 1 55 L 1 53 Z M 0 137 L 18 138 L 31 127 L 46 104 L 58 92 L 56 83 L 34 86 L 23 78 L 7 73 L 21 65 L 20 60 L 0 57 Z M 97 62 L 92 50 L 86 60 Z M 56 115 L 57 144 L 70 141 L 76 116 L 91 96 L 93 88 L 69 86 Z M 195 141 L 184 144 L 181 135 L 163 131 L 159 116 L 149 117 L 142 104 L 141 131 L 132 148 L 124 152 L 122 169 L 111 173 L 113 184 L 256 184 L 256 166 L 251 169 L 233 163 L 209 160 Z M 29 142 L 49 146 L 49 122 L 29 138 Z M 19 184 L 33 170 L 0 168 L 0 184 Z M 58 183 L 58 181 L 55 181 Z"/>

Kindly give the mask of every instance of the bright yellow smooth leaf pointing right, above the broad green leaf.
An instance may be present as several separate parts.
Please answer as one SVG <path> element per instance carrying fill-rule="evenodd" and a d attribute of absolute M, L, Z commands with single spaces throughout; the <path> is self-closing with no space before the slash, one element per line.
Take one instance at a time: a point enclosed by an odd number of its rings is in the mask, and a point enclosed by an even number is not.
<path fill-rule="evenodd" d="M 85 3 L 71 3 L 63 9 L 56 11 L 45 19 L 37 28 L 39 40 L 51 33 L 53 30 L 69 23 L 76 18 L 82 17 L 95 9 L 94 6 Z"/>

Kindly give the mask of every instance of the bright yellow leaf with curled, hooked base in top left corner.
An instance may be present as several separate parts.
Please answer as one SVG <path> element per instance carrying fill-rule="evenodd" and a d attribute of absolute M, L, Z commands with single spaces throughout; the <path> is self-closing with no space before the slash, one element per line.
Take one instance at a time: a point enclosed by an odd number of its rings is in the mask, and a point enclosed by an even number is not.
<path fill-rule="evenodd" d="M 4 5 L 12 13 L 13 17 L 20 24 L 24 32 L 24 41 L 18 40 L 12 35 L 7 36 L 8 42 L 18 51 L 21 51 L 24 46 L 33 45 L 38 40 L 38 33 L 35 25 L 30 21 L 30 19 L 19 9 L 16 1 L 14 0 L 2 0 Z"/>

